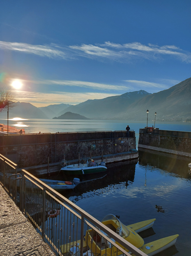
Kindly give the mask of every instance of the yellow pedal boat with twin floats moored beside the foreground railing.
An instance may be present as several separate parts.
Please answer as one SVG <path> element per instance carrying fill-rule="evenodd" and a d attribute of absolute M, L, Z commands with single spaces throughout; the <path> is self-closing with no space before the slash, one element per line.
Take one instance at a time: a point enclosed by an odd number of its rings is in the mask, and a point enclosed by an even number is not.
<path fill-rule="evenodd" d="M 113 214 L 108 214 L 104 219 L 102 219 L 102 223 L 106 225 L 108 228 L 116 232 L 118 235 L 123 237 L 126 241 L 133 244 L 135 247 L 146 253 L 148 256 L 153 256 L 160 251 L 164 251 L 165 249 L 173 246 L 177 240 L 178 235 L 173 235 L 170 237 L 164 237 L 162 239 L 156 240 L 154 242 L 150 242 L 144 244 L 144 240 L 140 235 L 139 232 L 142 232 L 148 228 L 151 228 L 155 222 L 155 219 L 149 219 L 142 222 L 134 223 L 128 226 L 125 226 L 120 220 L 114 216 Z M 102 232 L 102 231 L 101 231 Z M 106 233 L 102 232 L 105 236 Z M 85 239 L 83 242 L 83 251 L 87 251 L 89 248 L 91 250 L 91 255 L 93 256 L 117 256 L 122 255 L 123 253 L 110 242 L 103 239 L 103 237 L 99 236 L 99 234 L 93 230 L 89 229 L 86 231 Z M 113 238 L 107 236 L 113 242 Z M 99 238 L 99 239 L 98 239 Z M 80 250 L 80 240 L 76 241 L 78 243 L 78 247 Z M 76 246 L 76 242 L 71 242 L 61 246 L 62 254 L 68 255 L 68 252 L 71 247 Z M 118 242 L 116 244 L 120 245 Z M 121 246 L 122 247 L 122 246 Z M 131 253 L 129 250 L 122 247 L 125 251 Z M 112 249 L 112 250 L 111 250 Z M 132 254 L 134 256 L 134 254 Z"/>

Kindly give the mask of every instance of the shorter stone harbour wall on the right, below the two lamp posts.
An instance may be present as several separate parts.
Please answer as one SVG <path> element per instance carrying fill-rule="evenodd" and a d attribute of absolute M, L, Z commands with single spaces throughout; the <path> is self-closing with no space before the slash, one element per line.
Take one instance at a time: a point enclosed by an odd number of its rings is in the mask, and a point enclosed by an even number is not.
<path fill-rule="evenodd" d="M 191 156 L 191 132 L 140 129 L 138 148 Z"/>

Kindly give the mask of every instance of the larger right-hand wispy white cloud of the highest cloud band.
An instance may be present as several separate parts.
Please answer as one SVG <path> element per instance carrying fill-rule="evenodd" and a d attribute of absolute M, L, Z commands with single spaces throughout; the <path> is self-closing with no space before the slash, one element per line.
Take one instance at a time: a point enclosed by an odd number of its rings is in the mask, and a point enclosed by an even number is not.
<path fill-rule="evenodd" d="M 95 46 L 82 44 L 81 46 L 70 46 L 70 48 L 83 52 L 83 56 L 91 58 L 97 56 L 118 61 L 128 61 L 135 58 L 156 59 L 161 56 L 173 56 L 181 61 L 191 63 L 191 53 L 173 45 L 159 47 L 152 44 L 143 45 L 140 42 L 126 44 L 105 42 Z"/>

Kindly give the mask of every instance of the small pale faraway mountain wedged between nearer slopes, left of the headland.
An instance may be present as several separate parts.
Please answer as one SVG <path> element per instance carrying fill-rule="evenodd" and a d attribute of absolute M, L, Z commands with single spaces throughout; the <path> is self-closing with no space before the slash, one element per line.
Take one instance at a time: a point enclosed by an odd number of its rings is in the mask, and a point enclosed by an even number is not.
<path fill-rule="evenodd" d="M 58 113 L 66 109 L 67 107 L 70 107 L 70 104 L 54 104 L 49 105 L 47 107 L 39 107 L 39 109 L 46 115 L 49 116 L 49 118 L 53 118 L 54 116 L 58 116 Z"/>

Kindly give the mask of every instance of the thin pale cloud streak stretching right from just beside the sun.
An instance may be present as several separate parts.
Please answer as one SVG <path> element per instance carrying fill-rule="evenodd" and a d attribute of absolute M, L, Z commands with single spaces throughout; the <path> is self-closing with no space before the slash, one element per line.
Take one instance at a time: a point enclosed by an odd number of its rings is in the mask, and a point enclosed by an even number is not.
<path fill-rule="evenodd" d="M 128 87 L 125 85 L 113 85 L 113 84 L 99 84 L 85 81 L 73 81 L 73 80 L 22 80 L 23 82 L 31 84 L 47 84 L 47 85 L 62 85 L 62 86 L 77 86 L 84 88 L 93 88 L 99 90 L 127 90 Z"/>

